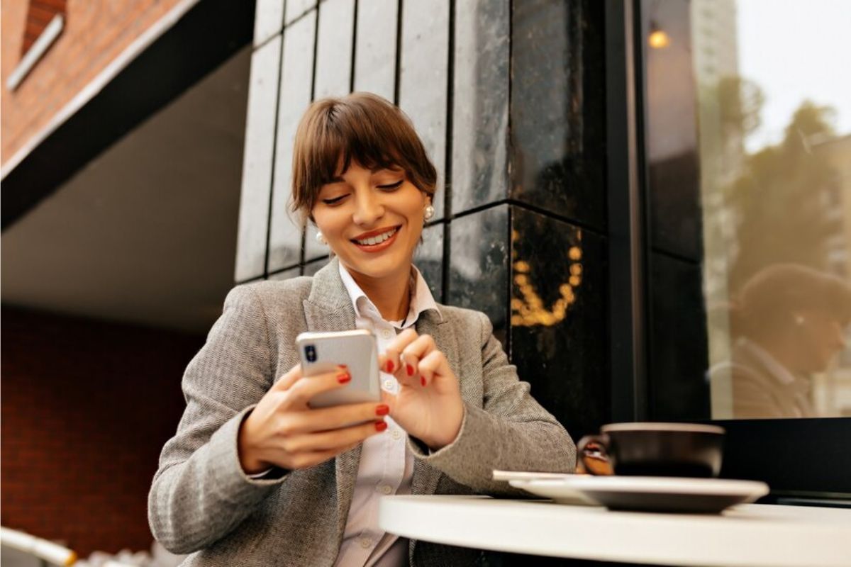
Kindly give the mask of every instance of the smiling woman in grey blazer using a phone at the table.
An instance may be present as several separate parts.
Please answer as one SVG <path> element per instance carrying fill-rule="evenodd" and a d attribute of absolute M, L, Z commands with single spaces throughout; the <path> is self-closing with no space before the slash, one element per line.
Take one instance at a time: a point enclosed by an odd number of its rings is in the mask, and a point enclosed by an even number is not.
<path fill-rule="evenodd" d="M 380 496 L 511 493 L 494 468 L 572 471 L 573 441 L 518 381 L 488 318 L 435 303 L 411 263 L 437 174 L 401 111 L 372 94 L 320 100 L 293 163 L 294 209 L 334 259 L 313 278 L 228 295 L 186 369 L 151 530 L 194 552 L 186 564 L 471 562 L 472 550 L 380 531 Z M 378 338 L 384 399 L 311 410 L 349 377 L 302 377 L 295 337 L 356 327 Z"/>

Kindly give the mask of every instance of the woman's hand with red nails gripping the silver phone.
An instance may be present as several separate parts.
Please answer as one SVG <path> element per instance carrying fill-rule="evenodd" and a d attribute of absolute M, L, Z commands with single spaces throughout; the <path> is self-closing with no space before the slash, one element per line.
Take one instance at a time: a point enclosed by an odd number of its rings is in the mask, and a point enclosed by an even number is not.
<path fill-rule="evenodd" d="M 387 427 L 385 404 L 368 402 L 311 409 L 322 392 L 351 381 L 345 366 L 317 376 L 301 376 L 296 365 L 275 383 L 239 428 L 239 462 L 248 474 L 277 466 L 308 468 L 348 451 Z M 349 423 L 364 422 L 358 425 Z"/>

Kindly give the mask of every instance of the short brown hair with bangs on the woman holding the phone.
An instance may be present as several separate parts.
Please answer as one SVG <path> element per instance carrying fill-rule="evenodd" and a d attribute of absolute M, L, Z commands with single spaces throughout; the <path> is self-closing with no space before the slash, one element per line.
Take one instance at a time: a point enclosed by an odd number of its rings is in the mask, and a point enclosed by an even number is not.
<path fill-rule="evenodd" d="M 311 218 L 319 190 L 352 160 L 362 167 L 402 167 L 408 180 L 434 196 L 437 170 L 408 116 L 371 93 L 320 99 L 301 117 L 293 148 L 294 212 Z"/>

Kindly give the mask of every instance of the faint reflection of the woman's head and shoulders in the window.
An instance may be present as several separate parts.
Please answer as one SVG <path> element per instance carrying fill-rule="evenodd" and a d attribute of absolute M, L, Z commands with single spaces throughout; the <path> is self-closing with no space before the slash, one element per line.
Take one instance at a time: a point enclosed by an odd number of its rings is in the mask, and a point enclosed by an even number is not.
<path fill-rule="evenodd" d="M 735 419 L 823 417 L 813 375 L 845 349 L 851 286 L 798 264 L 772 264 L 751 276 L 727 307 L 730 359 L 710 369 Z M 724 395 L 720 394 L 723 393 Z"/>

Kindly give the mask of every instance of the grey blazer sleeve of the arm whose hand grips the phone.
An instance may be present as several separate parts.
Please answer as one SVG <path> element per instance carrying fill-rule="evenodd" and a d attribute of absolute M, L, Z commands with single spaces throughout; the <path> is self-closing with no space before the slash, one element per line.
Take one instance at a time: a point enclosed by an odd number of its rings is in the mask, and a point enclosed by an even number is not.
<path fill-rule="evenodd" d="M 282 469 L 272 479 L 250 479 L 237 451 L 240 424 L 271 388 L 271 353 L 257 292 L 235 287 L 186 367 L 186 411 L 163 446 L 148 495 L 151 532 L 172 553 L 191 553 L 226 536 L 283 482 Z"/>

